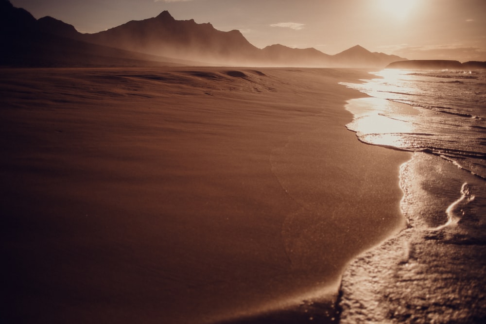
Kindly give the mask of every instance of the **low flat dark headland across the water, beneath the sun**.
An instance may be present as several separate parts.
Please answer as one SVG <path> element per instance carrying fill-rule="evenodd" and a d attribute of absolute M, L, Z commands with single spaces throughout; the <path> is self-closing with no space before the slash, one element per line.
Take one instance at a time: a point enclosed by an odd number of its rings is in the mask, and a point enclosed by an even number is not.
<path fill-rule="evenodd" d="M 427 69 L 427 70 L 441 70 L 441 69 L 484 69 L 486 62 L 469 61 L 461 63 L 459 61 L 449 60 L 410 60 L 392 62 L 386 68 L 399 69 Z"/>

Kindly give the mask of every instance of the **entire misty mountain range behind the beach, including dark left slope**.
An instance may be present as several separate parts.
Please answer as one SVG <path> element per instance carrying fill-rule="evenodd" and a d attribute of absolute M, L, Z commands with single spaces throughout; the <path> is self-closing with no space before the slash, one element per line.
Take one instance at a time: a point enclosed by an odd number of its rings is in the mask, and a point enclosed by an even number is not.
<path fill-rule="evenodd" d="M 335 55 L 313 48 L 259 49 L 238 30 L 176 20 L 168 11 L 95 34 L 82 34 L 53 17 L 35 19 L 0 0 L 1 66 L 294 66 L 383 68 L 403 61 L 356 45 Z"/>

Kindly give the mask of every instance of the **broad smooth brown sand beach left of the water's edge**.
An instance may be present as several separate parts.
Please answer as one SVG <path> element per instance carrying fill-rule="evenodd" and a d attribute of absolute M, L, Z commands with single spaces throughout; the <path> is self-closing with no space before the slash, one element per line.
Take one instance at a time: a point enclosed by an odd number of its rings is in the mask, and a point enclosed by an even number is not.
<path fill-rule="evenodd" d="M 337 321 L 405 224 L 410 154 L 345 127 L 364 73 L 2 69 L 5 323 Z"/>

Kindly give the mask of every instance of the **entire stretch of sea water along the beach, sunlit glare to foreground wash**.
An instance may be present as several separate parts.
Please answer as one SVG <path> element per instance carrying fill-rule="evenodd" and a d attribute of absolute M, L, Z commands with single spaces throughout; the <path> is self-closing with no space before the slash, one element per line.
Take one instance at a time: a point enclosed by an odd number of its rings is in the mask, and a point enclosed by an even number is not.
<path fill-rule="evenodd" d="M 408 227 L 350 265 L 342 323 L 485 323 L 486 70 L 385 69 L 362 81 L 343 83 L 369 96 L 348 102 L 347 128 L 414 152 L 400 168 Z"/>

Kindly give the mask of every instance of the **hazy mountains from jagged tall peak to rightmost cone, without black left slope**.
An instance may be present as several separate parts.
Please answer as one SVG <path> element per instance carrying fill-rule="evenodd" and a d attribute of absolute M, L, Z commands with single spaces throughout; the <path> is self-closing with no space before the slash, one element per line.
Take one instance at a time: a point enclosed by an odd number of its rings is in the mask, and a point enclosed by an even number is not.
<path fill-rule="evenodd" d="M 164 11 L 155 18 L 129 21 L 83 39 L 96 44 L 119 47 L 164 56 L 184 57 L 215 64 L 254 64 L 267 66 L 347 66 L 384 67 L 402 59 L 395 55 L 371 53 L 361 46 L 330 56 L 316 49 L 293 49 L 280 44 L 260 50 L 243 34 L 233 30 L 221 32 L 209 24 L 175 20 Z"/>

